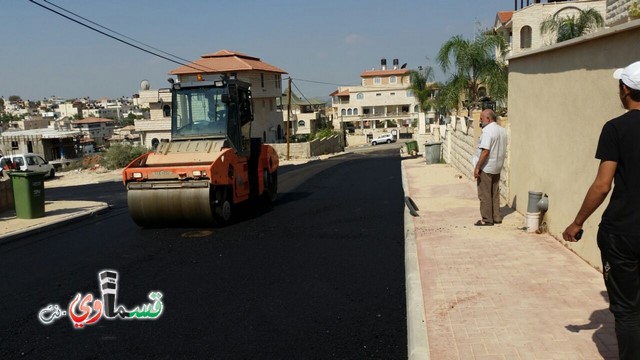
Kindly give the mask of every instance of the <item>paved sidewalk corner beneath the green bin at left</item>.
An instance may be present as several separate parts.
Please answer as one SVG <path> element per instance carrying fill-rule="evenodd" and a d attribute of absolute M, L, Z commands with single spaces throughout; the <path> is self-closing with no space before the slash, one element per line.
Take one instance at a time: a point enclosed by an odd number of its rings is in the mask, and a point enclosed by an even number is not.
<path fill-rule="evenodd" d="M 96 201 L 45 201 L 45 214 L 40 218 L 19 219 L 13 210 L 1 212 L 0 244 L 92 216 L 108 208 L 108 204 Z"/>

